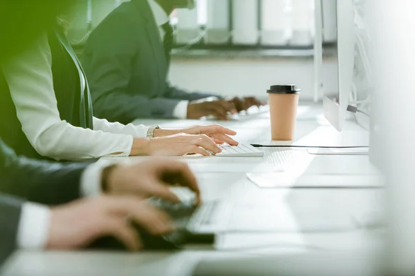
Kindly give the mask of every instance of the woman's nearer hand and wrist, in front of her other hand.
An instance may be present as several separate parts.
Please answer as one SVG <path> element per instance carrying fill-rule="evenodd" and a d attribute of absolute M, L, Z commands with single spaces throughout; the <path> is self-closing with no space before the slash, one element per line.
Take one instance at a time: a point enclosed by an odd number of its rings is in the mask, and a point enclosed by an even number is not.
<path fill-rule="evenodd" d="M 171 130 L 177 132 L 177 130 Z M 183 156 L 189 153 L 199 153 L 209 156 L 221 152 L 221 149 L 207 135 L 175 135 L 149 139 L 145 155 L 155 156 Z"/>

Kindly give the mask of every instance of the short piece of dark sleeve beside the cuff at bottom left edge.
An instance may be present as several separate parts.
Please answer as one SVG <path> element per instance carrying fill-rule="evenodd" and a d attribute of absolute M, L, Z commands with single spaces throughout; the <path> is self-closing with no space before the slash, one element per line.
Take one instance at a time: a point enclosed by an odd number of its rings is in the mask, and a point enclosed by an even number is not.
<path fill-rule="evenodd" d="M 0 267 L 16 248 L 17 230 L 24 202 L 0 194 Z"/>

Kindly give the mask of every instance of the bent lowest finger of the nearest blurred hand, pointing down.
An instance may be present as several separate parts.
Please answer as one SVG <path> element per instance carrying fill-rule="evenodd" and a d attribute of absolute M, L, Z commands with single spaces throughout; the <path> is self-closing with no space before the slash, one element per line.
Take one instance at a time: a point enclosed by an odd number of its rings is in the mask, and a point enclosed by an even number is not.
<path fill-rule="evenodd" d="M 125 217 L 105 218 L 104 225 L 102 226 L 102 235 L 116 237 L 130 251 L 137 251 L 141 248 L 137 231 L 129 226 Z"/>

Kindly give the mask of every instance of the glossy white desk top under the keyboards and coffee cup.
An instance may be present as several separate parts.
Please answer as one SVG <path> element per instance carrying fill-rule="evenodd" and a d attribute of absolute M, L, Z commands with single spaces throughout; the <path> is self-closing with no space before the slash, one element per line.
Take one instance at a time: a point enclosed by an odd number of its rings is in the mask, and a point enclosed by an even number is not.
<path fill-rule="evenodd" d="M 368 145 L 369 135 L 351 121 L 342 133 L 321 117 L 316 110 L 300 109 L 297 121 L 296 144 L 346 146 Z M 165 128 L 183 128 L 201 121 L 140 120 L 142 124 L 159 124 Z M 205 123 L 213 123 L 211 121 Z M 270 144 L 269 119 L 258 115 L 246 121 L 222 122 L 237 130 L 243 142 Z M 205 200 L 230 198 L 241 202 L 282 201 L 293 210 L 294 217 L 307 210 L 348 211 L 351 215 L 379 212 L 382 189 L 261 189 L 252 184 L 245 172 L 230 170 L 232 164 L 243 170 L 260 167 L 300 170 L 302 174 L 371 175 L 374 170 L 367 156 L 308 155 L 306 150 L 265 149 L 264 158 L 181 157 L 194 168 Z M 131 160 L 141 161 L 146 157 Z M 218 172 L 212 172 L 216 166 Z M 226 170 L 228 167 L 228 171 Z M 266 168 L 268 168 L 266 167 Z M 208 168 L 208 172 L 206 172 Z M 219 169 L 220 168 L 220 169 Z M 205 171 L 205 172 L 203 172 Z M 277 218 L 276 218 L 277 219 Z M 18 252 L 6 264 L 3 275 L 187 275 L 201 258 L 228 256 L 281 255 L 320 250 L 349 250 L 376 244 L 373 235 L 365 230 L 335 233 L 268 233 L 226 234 L 219 237 L 217 250 L 194 248 L 176 253 L 33 253 Z"/>

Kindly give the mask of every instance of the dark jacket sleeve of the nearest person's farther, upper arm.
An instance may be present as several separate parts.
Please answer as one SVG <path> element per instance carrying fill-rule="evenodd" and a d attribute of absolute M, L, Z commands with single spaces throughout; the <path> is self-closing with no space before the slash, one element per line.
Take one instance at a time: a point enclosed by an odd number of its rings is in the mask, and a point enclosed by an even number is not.
<path fill-rule="evenodd" d="M 80 179 L 86 166 L 18 157 L 0 139 L 1 193 L 42 204 L 63 204 L 80 197 Z"/>

